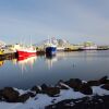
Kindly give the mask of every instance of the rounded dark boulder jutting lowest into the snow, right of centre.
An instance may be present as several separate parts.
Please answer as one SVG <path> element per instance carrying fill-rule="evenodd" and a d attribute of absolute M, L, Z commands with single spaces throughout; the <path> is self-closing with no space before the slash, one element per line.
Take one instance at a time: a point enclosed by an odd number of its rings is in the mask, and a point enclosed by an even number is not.
<path fill-rule="evenodd" d="M 87 84 L 83 84 L 80 86 L 78 90 L 85 95 L 92 95 L 93 94 L 93 89 L 90 86 L 88 86 Z"/>

